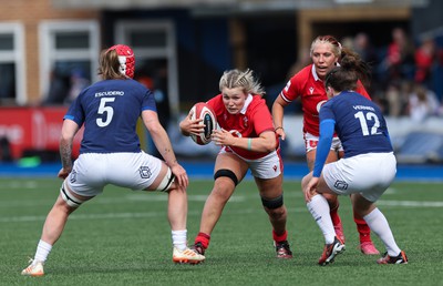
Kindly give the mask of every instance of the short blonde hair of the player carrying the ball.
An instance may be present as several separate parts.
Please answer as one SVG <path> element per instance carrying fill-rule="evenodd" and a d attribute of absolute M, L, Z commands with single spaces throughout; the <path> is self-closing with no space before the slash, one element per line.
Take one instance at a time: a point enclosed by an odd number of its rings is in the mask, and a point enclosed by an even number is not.
<path fill-rule="evenodd" d="M 261 96 L 266 93 L 261 83 L 254 76 L 254 71 L 249 69 L 245 72 L 237 69 L 225 71 L 218 85 L 220 91 L 224 88 L 241 88 L 245 93 L 258 94 Z"/>

